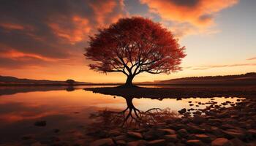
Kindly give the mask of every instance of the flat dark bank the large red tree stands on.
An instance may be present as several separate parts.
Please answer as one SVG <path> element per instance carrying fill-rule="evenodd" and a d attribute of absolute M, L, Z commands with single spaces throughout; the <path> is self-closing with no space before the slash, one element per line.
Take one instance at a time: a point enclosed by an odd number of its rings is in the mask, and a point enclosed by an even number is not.
<path fill-rule="evenodd" d="M 256 86 L 173 86 L 170 88 L 85 88 L 86 91 L 102 93 L 113 96 L 123 96 L 132 98 L 151 98 L 151 99 L 181 99 L 191 97 L 240 97 L 254 98 L 256 95 Z"/>

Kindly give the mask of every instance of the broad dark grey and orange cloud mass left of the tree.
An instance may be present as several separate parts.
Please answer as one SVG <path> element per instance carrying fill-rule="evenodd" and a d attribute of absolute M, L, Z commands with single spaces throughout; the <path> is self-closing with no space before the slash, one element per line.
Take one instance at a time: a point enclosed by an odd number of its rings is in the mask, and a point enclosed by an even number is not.
<path fill-rule="evenodd" d="M 81 64 L 88 36 L 124 15 L 119 0 L 3 0 L 0 68 Z"/>

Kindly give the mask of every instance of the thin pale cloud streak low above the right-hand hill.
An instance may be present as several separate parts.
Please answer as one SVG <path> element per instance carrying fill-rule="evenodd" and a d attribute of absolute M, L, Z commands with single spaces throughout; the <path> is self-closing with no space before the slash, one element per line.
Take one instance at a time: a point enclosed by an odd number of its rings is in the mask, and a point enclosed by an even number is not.
<path fill-rule="evenodd" d="M 224 64 L 224 65 L 198 66 L 198 67 L 193 67 L 192 70 L 205 70 L 205 69 L 214 69 L 214 68 L 221 68 L 221 67 L 236 67 L 236 66 L 256 66 L 256 64 Z"/>

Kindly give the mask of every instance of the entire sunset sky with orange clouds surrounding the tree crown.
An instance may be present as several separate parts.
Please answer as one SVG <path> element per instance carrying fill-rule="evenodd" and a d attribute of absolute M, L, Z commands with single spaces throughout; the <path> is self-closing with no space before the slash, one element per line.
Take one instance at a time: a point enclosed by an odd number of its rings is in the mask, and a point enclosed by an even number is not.
<path fill-rule="evenodd" d="M 89 36 L 119 18 L 161 23 L 186 47 L 182 70 L 135 82 L 256 72 L 255 0 L 1 0 L 0 75 L 124 82 L 89 69 Z"/>

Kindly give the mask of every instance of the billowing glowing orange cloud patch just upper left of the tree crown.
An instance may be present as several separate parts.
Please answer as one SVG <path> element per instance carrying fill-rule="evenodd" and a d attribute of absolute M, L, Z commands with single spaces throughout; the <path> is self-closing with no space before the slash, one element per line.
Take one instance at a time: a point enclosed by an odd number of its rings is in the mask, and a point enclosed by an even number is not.
<path fill-rule="evenodd" d="M 108 26 L 121 18 L 124 11 L 123 1 L 91 1 L 89 7 L 94 12 L 91 18 L 84 15 L 56 15 L 50 18 L 47 24 L 56 36 L 74 45 L 86 41 L 89 34 L 97 28 Z M 94 21 L 96 23 L 93 23 Z"/>

